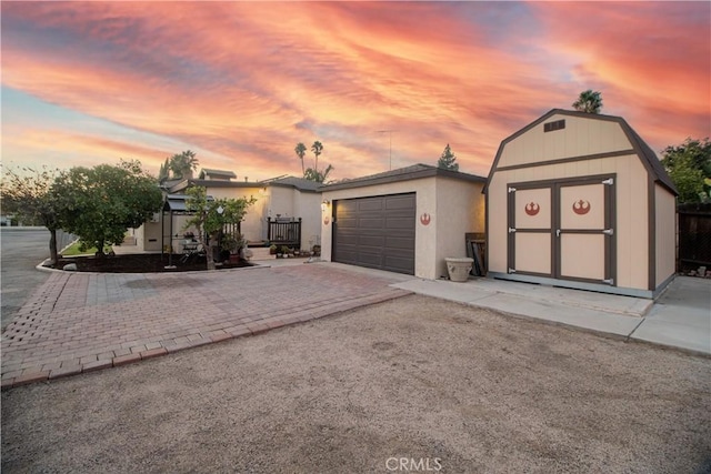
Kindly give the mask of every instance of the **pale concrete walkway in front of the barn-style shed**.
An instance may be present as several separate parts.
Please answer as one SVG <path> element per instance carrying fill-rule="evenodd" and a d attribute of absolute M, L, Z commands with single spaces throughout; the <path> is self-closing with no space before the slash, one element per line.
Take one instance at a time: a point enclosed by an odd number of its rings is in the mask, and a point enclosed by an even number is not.
<path fill-rule="evenodd" d="M 711 280 L 678 276 L 654 303 L 491 279 L 409 280 L 401 290 L 627 339 L 711 354 Z"/>

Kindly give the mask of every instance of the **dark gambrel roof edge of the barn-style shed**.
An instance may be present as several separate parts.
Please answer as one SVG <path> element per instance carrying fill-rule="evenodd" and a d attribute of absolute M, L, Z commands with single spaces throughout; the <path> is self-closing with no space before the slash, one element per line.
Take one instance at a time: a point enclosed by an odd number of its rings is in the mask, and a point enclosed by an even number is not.
<path fill-rule="evenodd" d="M 499 159 L 501 158 L 503 148 L 509 142 L 515 140 L 523 133 L 539 125 L 541 122 L 547 121 L 553 115 L 569 115 L 569 117 L 578 117 L 578 118 L 583 118 L 589 120 L 603 120 L 603 121 L 619 123 L 620 127 L 622 128 L 622 131 L 627 135 L 628 140 L 632 144 L 634 152 L 640 158 L 640 160 L 642 161 L 642 164 L 644 165 L 647 171 L 650 173 L 650 175 L 654 179 L 654 181 L 661 183 L 664 188 L 667 188 L 673 194 L 679 194 L 679 192 L 677 191 L 677 186 L 674 185 L 674 182 L 671 180 L 671 178 L 664 170 L 664 167 L 662 167 L 662 163 L 659 161 L 659 158 L 657 158 L 657 153 L 654 153 L 654 151 L 644 142 L 644 140 L 641 139 L 641 137 L 634 131 L 634 129 L 632 129 L 632 127 L 630 127 L 629 123 L 627 123 L 627 121 L 623 118 L 615 117 L 615 115 L 603 115 L 600 113 L 578 112 L 574 110 L 564 110 L 564 109 L 550 110 L 544 115 L 540 117 L 535 121 L 529 123 L 518 132 L 507 137 L 501 141 L 501 144 L 499 145 L 499 151 L 497 151 L 497 157 L 494 158 L 493 163 L 491 164 L 491 170 L 489 171 L 489 177 L 487 178 L 487 184 L 484 185 L 483 192 L 487 191 L 487 188 L 491 182 L 493 173 L 497 171 Z"/>

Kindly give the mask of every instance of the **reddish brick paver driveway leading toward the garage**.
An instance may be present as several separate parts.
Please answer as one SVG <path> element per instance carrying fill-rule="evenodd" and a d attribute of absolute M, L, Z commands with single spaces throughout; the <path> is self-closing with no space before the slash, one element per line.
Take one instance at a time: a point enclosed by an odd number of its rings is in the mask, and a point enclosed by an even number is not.
<path fill-rule="evenodd" d="M 2 387 L 127 364 L 409 294 L 326 264 L 53 273 L 2 334 Z"/>

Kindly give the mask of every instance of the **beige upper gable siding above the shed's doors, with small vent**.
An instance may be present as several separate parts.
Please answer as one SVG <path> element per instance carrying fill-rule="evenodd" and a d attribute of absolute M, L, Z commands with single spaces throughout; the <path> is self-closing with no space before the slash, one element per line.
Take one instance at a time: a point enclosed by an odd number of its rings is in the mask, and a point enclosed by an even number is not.
<path fill-rule="evenodd" d="M 543 123 L 540 123 L 507 143 L 498 167 L 538 163 L 632 148 L 617 122 L 570 115 L 553 115 L 545 122 L 557 120 L 565 120 L 565 129 L 543 132 Z"/>

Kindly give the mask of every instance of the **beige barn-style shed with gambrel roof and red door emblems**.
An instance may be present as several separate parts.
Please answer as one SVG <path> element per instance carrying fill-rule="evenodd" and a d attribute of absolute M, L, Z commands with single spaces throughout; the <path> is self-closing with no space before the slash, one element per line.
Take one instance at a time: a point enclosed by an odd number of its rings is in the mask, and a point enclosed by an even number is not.
<path fill-rule="evenodd" d="M 673 182 L 620 117 L 553 109 L 501 142 L 489 275 L 654 297 L 675 271 Z"/>

